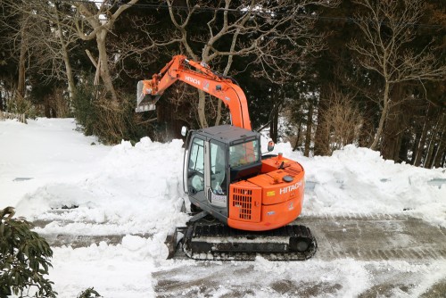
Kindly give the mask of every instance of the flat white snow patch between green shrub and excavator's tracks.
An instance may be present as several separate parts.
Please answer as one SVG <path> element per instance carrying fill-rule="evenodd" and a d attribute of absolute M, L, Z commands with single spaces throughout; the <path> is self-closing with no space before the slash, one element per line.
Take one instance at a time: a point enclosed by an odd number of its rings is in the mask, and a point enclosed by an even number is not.
<path fill-rule="evenodd" d="M 150 240 L 129 237 L 117 245 L 55 248 L 50 277 L 59 297 L 76 297 L 91 286 L 104 297 L 153 297 L 150 275 L 158 252 Z"/>

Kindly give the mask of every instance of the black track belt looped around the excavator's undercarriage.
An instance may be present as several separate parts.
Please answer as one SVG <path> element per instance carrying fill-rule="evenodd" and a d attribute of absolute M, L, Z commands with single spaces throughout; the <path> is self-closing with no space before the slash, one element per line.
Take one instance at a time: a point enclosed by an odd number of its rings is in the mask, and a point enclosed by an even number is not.
<path fill-rule="evenodd" d="M 258 242 L 262 237 L 301 237 L 309 239 L 310 245 L 305 252 L 192 252 L 191 241 L 200 237 L 215 237 L 224 240 L 227 237 L 249 237 Z M 214 241 L 215 242 L 215 241 Z M 186 256 L 194 260 L 202 261 L 254 261 L 260 255 L 270 261 L 305 261 L 310 259 L 317 251 L 318 244 L 311 235 L 310 228 L 301 225 L 288 225 L 265 232 L 242 231 L 229 228 L 222 224 L 195 223 L 189 226 L 183 239 L 183 251 Z"/>

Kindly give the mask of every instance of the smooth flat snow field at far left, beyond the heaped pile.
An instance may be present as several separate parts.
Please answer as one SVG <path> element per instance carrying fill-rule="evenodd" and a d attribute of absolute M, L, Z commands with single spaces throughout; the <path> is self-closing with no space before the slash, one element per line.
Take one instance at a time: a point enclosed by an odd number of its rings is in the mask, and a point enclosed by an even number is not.
<path fill-rule="evenodd" d="M 0 122 L 0 200 L 6 205 L 16 205 L 23 195 L 54 181 L 78 180 L 110 151 L 76 131 L 73 119 L 28 123 Z"/>

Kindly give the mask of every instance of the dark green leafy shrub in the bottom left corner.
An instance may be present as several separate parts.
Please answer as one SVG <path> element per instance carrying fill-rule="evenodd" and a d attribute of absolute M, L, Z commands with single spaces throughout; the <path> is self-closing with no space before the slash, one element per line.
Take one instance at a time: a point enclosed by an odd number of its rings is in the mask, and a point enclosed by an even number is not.
<path fill-rule="evenodd" d="M 0 297 L 56 297 L 45 278 L 53 251 L 27 220 L 13 215 L 12 207 L 0 210 Z"/>

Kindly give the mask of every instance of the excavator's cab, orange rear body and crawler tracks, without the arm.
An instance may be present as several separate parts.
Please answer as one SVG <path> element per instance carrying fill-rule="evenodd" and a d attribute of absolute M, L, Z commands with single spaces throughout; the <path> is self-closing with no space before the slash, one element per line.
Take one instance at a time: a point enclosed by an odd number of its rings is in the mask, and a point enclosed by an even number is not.
<path fill-rule="evenodd" d="M 310 258 L 317 248 L 310 229 L 284 227 L 301 212 L 302 178 L 301 165 L 281 154 L 262 159 L 257 132 L 230 125 L 189 131 L 184 187 L 202 212 L 184 231 L 184 252 L 196 260 Z M 207 214 L 222 224 L 201 220 Z"/>

